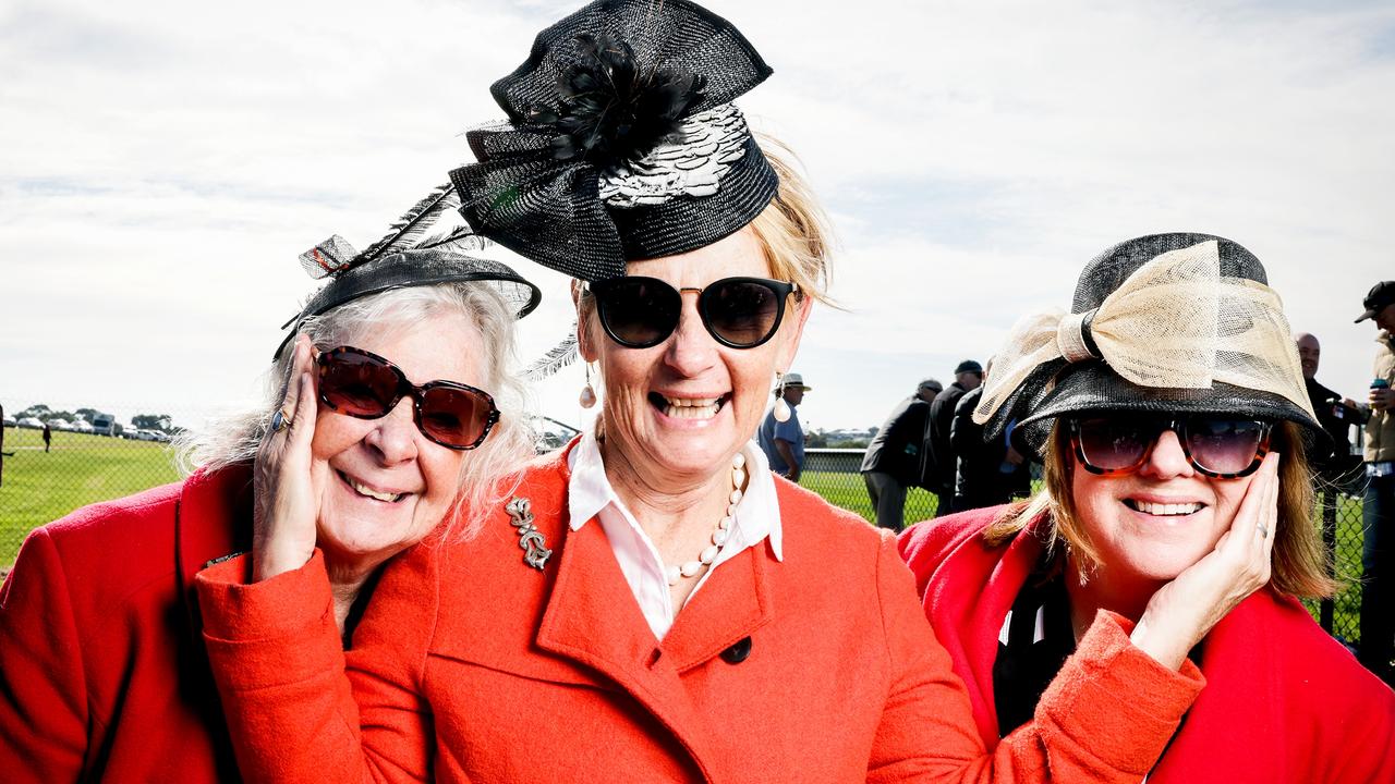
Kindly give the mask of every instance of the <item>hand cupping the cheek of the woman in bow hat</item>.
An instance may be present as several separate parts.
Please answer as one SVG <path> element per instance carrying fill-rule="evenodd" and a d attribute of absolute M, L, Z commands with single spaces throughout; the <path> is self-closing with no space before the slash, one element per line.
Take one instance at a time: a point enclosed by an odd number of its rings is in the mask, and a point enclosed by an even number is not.
<path fill-rule="evenodd" d="M 1226 612 L 1269 582 L 1274 534 L 1279 523 L 1279 455 L 1271 452 L 1246 490 L 1230 530 L 1148 601 L 1131 640 L 1162 664 L 1179 670 L 1187 651 Z"/>

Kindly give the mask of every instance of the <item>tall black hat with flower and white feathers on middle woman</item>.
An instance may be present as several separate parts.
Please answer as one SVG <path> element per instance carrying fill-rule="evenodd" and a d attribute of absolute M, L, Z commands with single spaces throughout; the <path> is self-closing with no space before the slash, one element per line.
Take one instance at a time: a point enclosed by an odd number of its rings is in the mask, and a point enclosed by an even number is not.
<path fill-rule="evenodd" d="M 470 226 L 583 280 L 751 223 L 780 181 L 731 103 L 770 75 L 686 0 L 597 0 L 538 33 L 491 92 L 509 121 L 470 131 L 451 180 Z"/>

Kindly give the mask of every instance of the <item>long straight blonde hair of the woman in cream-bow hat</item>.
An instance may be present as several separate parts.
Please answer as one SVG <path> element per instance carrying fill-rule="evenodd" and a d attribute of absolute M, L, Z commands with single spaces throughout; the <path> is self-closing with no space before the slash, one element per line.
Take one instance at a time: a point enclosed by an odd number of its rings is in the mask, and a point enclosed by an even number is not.
<path fill-rule="evenodd" d="M 1269 586 L 1300 598 L 1332 596 L 1338 583 L 1328 576 L 1327 548 L 1313 516 L 1313 472 L 1303 448 L 1300 425 L 1290 421 L 1276 424 L 1271 449 L 1283 458 L 1279 463 L 1279 522 L 1274 532 Z M 1074 470 L 1070 435 L 1057 419 L 1046 441 L 1042 488 L 1027 501 L 1004 509 L 983 529 L 983 540 L 992 547 L 1006 544 L 1032 520 L 1045 516 L 1042 533 L 1046 536 L 1048 550 L 1060 548 L 1067 552 L 1080 569 L 1099 564 L 1099 551 L 1089 541 L 1071 494 Z"/>

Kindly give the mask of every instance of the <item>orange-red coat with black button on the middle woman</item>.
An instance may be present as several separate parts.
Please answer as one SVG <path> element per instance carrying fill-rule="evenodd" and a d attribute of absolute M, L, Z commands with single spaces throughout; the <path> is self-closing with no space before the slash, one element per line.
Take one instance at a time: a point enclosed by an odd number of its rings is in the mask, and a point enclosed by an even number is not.
<path fill-rule="evenodd" d="M 199 575 L 248 778 L 809 784 L 1050 771 L 1137 784 L 1200 688 L 1106 619 L 1036 723 L 985 756 L 884 532 L 777 480 L 784 561 L 759 545 L 723 564 L 658 642 L 601 526 L 568 527 L 568 478 L 557 456 L 516 491 L 554 550 L 543 571 L 525 565 L 502 511 L 473 541 L 424 543 L 392 562 L 354 632 L 347 679 L 319 557 L 252 586 L 236 561 Z M 1129 709 L 1113 707 L 1120 693 Z"/>

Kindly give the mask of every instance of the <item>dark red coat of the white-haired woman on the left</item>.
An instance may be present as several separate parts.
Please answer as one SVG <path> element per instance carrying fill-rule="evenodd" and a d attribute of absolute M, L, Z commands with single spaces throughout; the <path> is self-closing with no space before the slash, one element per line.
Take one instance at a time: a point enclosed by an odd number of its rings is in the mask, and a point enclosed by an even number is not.
<path fill-rule="evenodd" d="M 246 543 L 226 470 L 36 529 L 0 589 L 0 781 L 239 781 L 194 573 Z"/>

